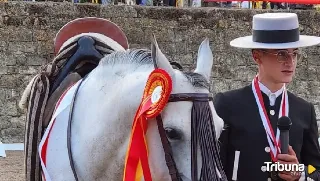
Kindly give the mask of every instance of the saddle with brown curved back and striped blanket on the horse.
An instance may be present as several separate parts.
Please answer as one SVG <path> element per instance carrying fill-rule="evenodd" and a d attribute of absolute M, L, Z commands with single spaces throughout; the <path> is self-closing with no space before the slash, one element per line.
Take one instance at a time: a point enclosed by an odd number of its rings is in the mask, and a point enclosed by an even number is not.
<path fill-rule="evenodd" d="M 104 39 L 102 35 L 113 39 Z M 26 181 L 42 180 L 38 146 L 60 96 L 90 73 L 101 58 L 125 50 L 124 47 L 128 48 L 128 43 L 122 30 L 105 19 L 79 18 L 57 33 L 55 58 L 41 69 L 30 85 L 24 140 Z"/>

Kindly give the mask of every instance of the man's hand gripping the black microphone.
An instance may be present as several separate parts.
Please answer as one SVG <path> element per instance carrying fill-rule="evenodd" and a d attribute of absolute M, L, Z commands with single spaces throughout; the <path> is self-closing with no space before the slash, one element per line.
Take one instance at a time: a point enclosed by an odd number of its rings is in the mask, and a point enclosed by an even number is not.
<path fill-rule="evenodd" d="M 279 154 L 278 155 L 278 162 L 281 164 L 299 164 L 298 158 L 296 153 L 293 151 L 292 147 L 289 146 L 288 154 Z M 294 167 L 291 167 L 294 168 Z M 299 171 L 287 172 L 282 171 L 279 172 L 279 177 L 286 181 L 295 181 L 298 180 L 301 176 Z"/>

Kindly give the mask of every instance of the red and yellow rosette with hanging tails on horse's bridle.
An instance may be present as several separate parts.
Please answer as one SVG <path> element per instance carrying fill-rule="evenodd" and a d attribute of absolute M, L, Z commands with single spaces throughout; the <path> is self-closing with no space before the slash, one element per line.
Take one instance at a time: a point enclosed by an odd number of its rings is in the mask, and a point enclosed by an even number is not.
<path fill-rule="evenodd" d="M 146 133 L 148 119 L 156 117 L 167 104 L 172 80 L 167 72 L 155 69 L 149 75 L 142 101 L 136 112 L 126 154 L 123 181 L 152 181 Z"/>

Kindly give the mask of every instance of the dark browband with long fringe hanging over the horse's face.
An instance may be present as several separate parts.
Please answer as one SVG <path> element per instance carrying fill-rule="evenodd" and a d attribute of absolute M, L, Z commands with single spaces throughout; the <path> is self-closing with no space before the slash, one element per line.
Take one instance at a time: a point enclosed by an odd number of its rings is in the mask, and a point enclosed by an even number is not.
<path fill-rule="evenodd" d="M 219 156 L 219 145 L 216 141 L 213 116 L 209 101 L 213 101 L 211 93 L 178 93 L 171 94 L 168 102 L 190 101 L 192 102 L 191 111 L 191 180 L 198 180 L 197 148 L 200 146 L 202 155 L 202 169 L 200 170 L 201 181 L 227 181 Z M 163 147 L 168 143 L 162 142 Z M 170 145 L 169 145 L 170 147 Z M 165 150 L 165 149 L 164 149 Z M 165 150 L 166 152 L 166 150 Z M 167 152 L 166 152 L 167 154 Z M 172 154 L 169 152 L 168 154 Z M 170 158 L 173 158 L 172 156 Z M 172 161 L 174 163 L 174 160 Z M 170 163 L 170 162 L 169 162 Z M 175 164 L 173 164 L 175 166 Z M 173 166 L 167 164 L 173 181 L 175 179 L 172 172 Z M 218 177 L 217 169 L 221 179 Z M 173 174 L 172 174 L 173 173 Z M 179 177 L 178 177 L 179 178 Z"/>

